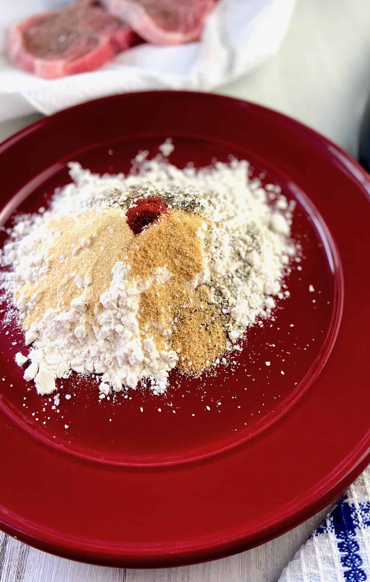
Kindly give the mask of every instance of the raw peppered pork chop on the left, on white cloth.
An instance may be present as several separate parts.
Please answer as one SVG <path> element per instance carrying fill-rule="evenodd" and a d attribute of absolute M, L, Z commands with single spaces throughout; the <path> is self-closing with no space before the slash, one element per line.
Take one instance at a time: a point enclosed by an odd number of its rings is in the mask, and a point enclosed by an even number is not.
<path fill-rule="evenodd" d="M 80 0 L 31 16 L 9 34 L 9 56 L 44 79 L 98 69 L 130 45 L 134 33 L 116 17 Z"/>

